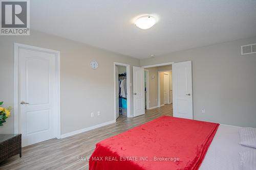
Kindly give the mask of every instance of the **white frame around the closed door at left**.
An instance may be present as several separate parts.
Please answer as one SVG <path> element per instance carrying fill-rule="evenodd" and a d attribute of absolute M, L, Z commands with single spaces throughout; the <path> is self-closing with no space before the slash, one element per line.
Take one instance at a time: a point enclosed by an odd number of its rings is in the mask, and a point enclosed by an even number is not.
<path fill-rule="evenodd" d="M 14 118 L 14 133 L 20 133 L 20 124 L 19 124 L 19 94 L 18 94 L 18 57 L 19 49 L 27 49 L 38 52 L 45 52 L 53 54 L 55 57 L 55 100 L 53 101 L 56 109 L 56 115 L 54 116 L 54 125 L 56 126 L 55 137 L 60 139 L 61 127 L 60 127 L 60 52 L 56 50 L 50 50 L 47 48 L 41 48 L 37 46 L 31 46 L 26 44 L 14 43 L 14 107 L 13 107 L 13 118 Z"/>

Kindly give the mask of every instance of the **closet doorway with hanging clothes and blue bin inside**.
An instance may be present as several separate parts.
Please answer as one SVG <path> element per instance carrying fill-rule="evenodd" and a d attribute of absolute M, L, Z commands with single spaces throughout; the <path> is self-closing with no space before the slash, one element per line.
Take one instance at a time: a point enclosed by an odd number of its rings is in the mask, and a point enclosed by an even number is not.
<path fill-rule="evenodd" d="M 114 62 L 114 117 L 131 117 L 130 65 Z"/>

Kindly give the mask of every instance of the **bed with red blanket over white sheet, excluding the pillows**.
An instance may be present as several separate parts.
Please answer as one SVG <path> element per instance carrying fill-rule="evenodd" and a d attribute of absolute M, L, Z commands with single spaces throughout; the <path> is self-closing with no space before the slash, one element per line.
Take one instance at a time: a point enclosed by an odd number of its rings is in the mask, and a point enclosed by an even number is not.
<path fill-rule="evenodd" d="M 161 116 L 97 143 L 89 169 L 239 169 L 238 129 Z"/>

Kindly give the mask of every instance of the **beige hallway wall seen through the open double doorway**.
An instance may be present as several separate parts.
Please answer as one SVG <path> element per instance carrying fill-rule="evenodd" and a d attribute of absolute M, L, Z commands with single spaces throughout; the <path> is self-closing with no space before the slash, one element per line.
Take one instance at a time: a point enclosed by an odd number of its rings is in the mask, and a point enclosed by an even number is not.
<path fill-rule="evenodd" d="M 148 89 L 150 98 L 150 108 L 158 106 L 158 71 L 172 70 L 172 65 L 150 67 L 148 69 Z M 152 79 L 152 76 L 155 79 Z"/>

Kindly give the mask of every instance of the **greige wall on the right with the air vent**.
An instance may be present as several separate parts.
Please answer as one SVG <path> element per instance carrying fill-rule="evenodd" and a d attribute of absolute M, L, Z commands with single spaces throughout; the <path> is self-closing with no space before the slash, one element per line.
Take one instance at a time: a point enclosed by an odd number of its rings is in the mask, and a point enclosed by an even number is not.
<path fill-rule="evenodd" d="M 143 59 L 140 64 L 191 60 L 194 118 L 255 128 L 256 54 L 241 56 L 241 45 L 252 43 L 256 37 Z"/>

